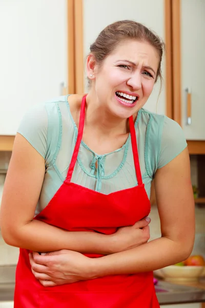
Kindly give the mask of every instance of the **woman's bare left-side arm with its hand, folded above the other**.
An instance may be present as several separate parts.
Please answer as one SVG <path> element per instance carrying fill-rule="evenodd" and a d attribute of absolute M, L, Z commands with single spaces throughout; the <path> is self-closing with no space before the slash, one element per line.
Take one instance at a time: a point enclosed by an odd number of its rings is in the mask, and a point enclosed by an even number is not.
<path fill-rule="evenodd" d="M 107 255 L 149 239 L 146 221 L 114 236 L 67 230 L 33 220 L 45 176 L 45 160 L 20 134 L 16 135 L 1 205 L 0 224 L 9 245 L 38 252 L 70 249 Z M 130 228 L 130 229 L 129 229 Z M 149 228 L 149 227 L 148 227 Z M 139 240 L 137 239 L 139 237 Z M 118 240 L 119 239 L 119 240 Z"/>

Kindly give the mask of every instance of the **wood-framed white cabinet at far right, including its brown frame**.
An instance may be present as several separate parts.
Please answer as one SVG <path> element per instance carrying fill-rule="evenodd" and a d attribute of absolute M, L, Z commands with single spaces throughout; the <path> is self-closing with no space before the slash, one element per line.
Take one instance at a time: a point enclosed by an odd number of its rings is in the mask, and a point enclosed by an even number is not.
<path fill-rule="evenodd" d="M 174 120 L 181 124 L 193 153 L 201 154 L 205 152 L 205 2 L 172 0 L 172 9 Z"/>

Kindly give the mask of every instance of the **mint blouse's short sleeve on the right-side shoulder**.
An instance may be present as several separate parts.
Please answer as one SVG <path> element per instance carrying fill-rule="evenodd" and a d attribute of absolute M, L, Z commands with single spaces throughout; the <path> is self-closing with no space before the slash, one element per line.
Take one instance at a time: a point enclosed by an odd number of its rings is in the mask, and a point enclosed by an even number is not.
<path fill-rule="evenodd" d="M 180 125 L 165 117 L 161 133 L 161 145 L 157 168 L 171 162 L 187 147 L 187 141 Z"/>

